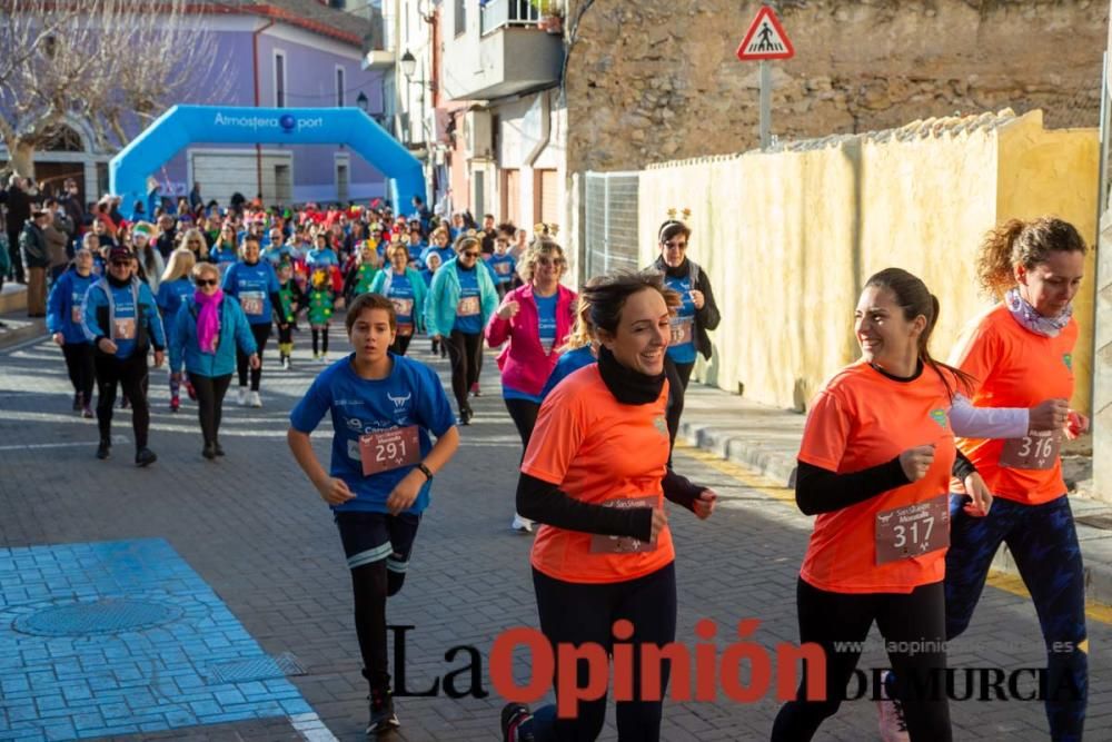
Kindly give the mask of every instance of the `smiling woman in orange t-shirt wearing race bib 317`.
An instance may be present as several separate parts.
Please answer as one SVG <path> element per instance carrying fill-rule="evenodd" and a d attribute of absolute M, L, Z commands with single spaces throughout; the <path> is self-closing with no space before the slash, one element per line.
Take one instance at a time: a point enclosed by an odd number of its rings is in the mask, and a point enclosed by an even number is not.
<path fill-rule="evenodd" d="M 935 362 L 929 344 L 939 303 L 923 281 L 888 268 L 872 276 L 857 303 L 862 356 L 811 406 L 798 456 L 796 502 L 818 514 L 796 588 L 801 644 L 826 653 L 826 700 L 807 698 L 807 669 L 795 701 L 776 716 L 774 742 L 810 740 L 837 712 L 875 621 L 896 671 L 913 740 L 951 739 L 942 577 L 947 545 L 946 492 L 961 476 L 982 512 L 991 495 L 956 454 L 951 407 L 971 379 Z M 966 428 L 976 421 L 962 418 Z M 907 531 L 902 518 L 926 527 Z M 936 526 L 936 527 L 935 527 Z M 838 649 L 835 649 L 838 647 Z"/>

